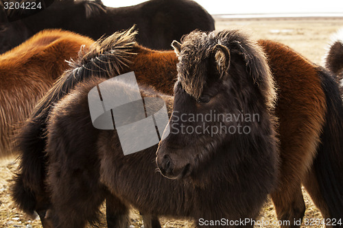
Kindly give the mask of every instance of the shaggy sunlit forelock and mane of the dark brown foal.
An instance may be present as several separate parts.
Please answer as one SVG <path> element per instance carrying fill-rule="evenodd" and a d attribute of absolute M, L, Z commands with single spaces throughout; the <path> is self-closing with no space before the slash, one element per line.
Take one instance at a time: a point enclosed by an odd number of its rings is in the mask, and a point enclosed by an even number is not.
<path fill-rule="evenodd" d="M 274 108 L 276 92 L 267 58 L 257 42 L 239 30 L 192 31 L 182 38 L 178 56 L 178 81 L 192 97 L 198 99 L 206 86 L 208 72 L 206 58 L 209 58 L 215 45 L 223 45 L 230 53 L 241 55 L 246 65 L 248 77 L 258 86 L 265 98 L 265 103 Z"/>

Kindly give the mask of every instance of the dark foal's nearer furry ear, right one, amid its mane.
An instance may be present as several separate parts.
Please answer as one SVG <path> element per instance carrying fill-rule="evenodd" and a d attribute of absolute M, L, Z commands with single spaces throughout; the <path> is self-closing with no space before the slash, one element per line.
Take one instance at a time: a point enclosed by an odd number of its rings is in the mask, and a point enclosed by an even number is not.
<path fill-rule="evenodd" d="M 230 51 L 224 45 L 217 44 L 213 49 L 213 56 L 217 71 L 220 73 L 220 77 L 222 77 L 230 66 Z"/>

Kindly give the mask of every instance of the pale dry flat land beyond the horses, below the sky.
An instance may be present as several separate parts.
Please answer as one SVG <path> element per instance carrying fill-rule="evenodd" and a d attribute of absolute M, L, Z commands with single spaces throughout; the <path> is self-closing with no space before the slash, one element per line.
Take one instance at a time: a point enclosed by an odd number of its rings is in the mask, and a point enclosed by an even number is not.
<path fill-rule="evenodd" d="M 343 27 L 343 18 L 215 18 L 216 29 L 244 29 L 254 39 L 276 40 L 322 63 L 330 37 Z"/>

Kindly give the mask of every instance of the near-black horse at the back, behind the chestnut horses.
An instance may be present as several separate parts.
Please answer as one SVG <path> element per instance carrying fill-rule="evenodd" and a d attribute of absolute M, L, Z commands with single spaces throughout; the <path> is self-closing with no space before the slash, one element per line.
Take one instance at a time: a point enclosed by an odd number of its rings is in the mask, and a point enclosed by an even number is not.
<path fill-rule="evenodd" d="M 40 2 L 51 4 L 51 0 Z M 33 11 L 20 8 L 8 13 L 12 22 L 0 25 L 0 53 L 48 28 L 75 31 L 97 40 L 135 24 L 139 29 L 137 42 L 152 49 L 171 49 L 171 41 L 180 40 L 194 29 L 215 29 L 212 16 L 190 0 L 150 0 L 122 8 L 106 7 L 100 0 L 55 0 L 44 10 L 37 9 L 36 14 L 27 16 Z"/>

